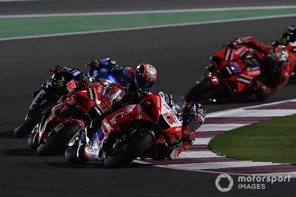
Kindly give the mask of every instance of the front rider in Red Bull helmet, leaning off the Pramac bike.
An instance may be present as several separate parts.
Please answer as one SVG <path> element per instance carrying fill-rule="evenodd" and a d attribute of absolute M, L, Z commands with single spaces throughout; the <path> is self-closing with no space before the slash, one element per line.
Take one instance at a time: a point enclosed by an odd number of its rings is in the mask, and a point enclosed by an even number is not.
<path fill-rule="evenodd" d="M 108 92 L 112 92 L 107 90 Z M 115 91 L 117 92 L 117 91 Z M 130 92 L 123 95 L 122 99 L 117 99 L 112 102 L 112 105 L 104 112 L 103 115 L 96 118 L 91 122 L 91 125 L 87 126 L 86 131 L 86 143 L 92 145 L 93 139 L 92 134 L 95 133 L 102 124 L 103 119 L 110 115 L 111 113 L 119 110 L 126 105 L 139 104 L 141 100 L 144 99 L 149 94 L 147 88 L 141 88 L 136 92 Z M 205 121 L 205 110 L 197 102 L 188 102 L 185 106 L 184 112 L 182 114 L 183 125 L 182 125 L 182 137 L 173 148 L 168 148 L 167 146 L 161 144 L 157 147 L 158 155 L 157 157 L 152 157 L 154 160 L 164 160 L 164 159 L 175 159 L 179 156 L 181 152 L 188 149 L 195 140 L 195 131 L 204 123 Z"/>

